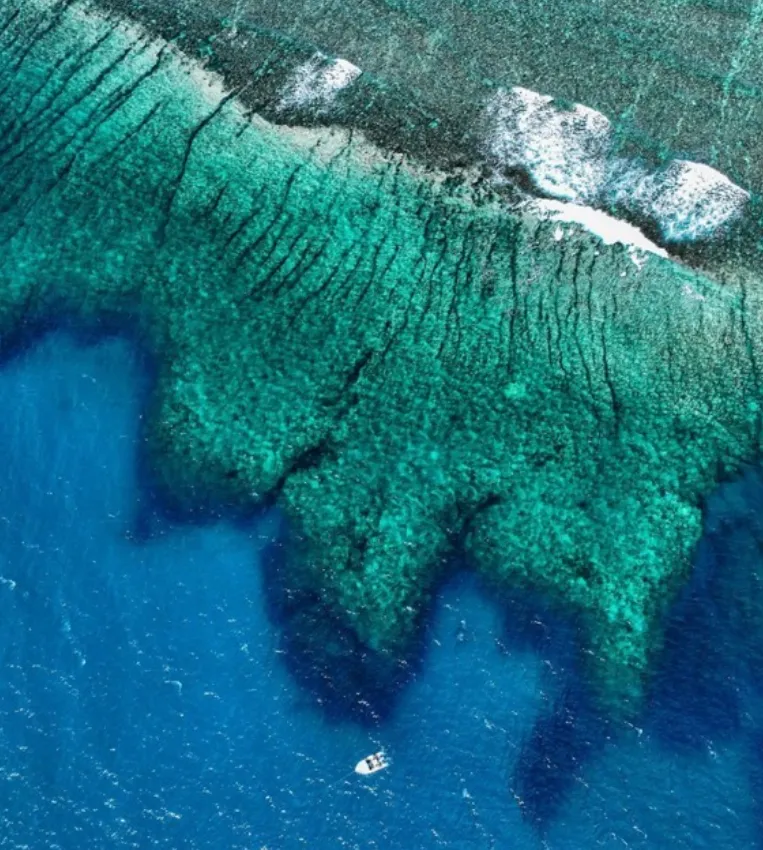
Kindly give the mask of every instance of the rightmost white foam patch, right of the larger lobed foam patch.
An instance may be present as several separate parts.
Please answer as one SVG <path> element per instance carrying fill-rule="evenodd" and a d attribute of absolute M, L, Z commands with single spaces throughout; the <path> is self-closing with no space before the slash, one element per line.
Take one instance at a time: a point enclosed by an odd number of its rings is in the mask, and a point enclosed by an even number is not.
<path fill-rule="evenodd" d="M 634 171 L 613 189 L 615 203 L 653 221 L 666 242 L 717 235 L 743 215 L 750 198 L 720 171 L 684 159 L 651 174 Z"/>

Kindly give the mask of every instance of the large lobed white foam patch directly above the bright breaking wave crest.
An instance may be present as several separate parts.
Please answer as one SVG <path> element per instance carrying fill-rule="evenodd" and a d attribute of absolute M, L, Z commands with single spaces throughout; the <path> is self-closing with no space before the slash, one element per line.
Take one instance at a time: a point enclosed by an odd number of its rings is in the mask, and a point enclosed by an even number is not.
<path fill-rule="evenodd" d="M 527 172 L 540 192 L 578 203 L 594 200 L 607 176 L 608 119 L 587 106 L 560 109 L 525 88 L 499 90 L 487 107 L 489 155 Z"/>

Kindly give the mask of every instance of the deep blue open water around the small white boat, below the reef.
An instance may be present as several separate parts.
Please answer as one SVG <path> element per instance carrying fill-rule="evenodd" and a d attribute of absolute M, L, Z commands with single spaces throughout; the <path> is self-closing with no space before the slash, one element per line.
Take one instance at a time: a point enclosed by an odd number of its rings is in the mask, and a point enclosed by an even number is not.
<path fill-rule="evenodd" d="M 588 707 L 569 624 L 461 576 L 360 723 L 293 675 L 277 517 L 152 516 L 148 375 L 64 334 L 0 370 L 0 847 L 763 846 L 756 473 L 711 500 L 643 722 Z M 391 768 L 352 775 L 380 746 Z"/>

